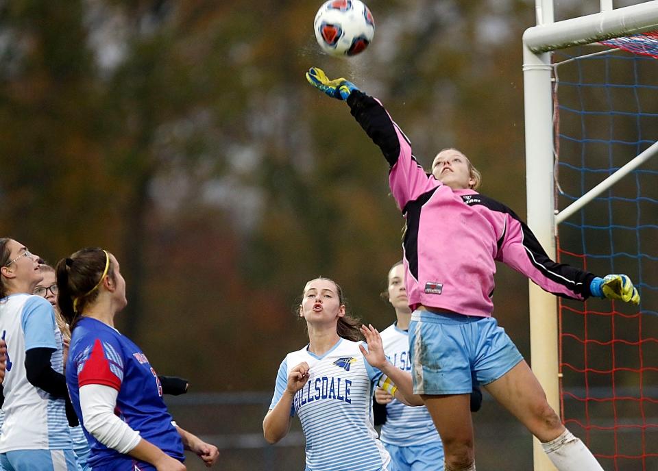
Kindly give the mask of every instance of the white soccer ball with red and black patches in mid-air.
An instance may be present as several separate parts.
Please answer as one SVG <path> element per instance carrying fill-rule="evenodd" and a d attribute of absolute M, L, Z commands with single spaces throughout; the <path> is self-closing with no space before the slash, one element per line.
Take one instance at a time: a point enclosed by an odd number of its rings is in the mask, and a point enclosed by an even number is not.
<path fill-rule="evenodd" d="M 315 39 L 331 55 L 356 55 L 368 47 L 375 22 L 361 0 L 329 0 L 317 10 Z"/>

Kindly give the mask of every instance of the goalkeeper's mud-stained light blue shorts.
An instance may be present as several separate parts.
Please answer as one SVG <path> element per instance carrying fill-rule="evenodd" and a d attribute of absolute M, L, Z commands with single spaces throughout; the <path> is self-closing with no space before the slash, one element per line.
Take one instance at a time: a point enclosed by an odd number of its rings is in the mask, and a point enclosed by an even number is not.
<path fill-rule="evenodd" d="M 523 359 L 496 319 L 432 311 L 411 314 L 409 351 L 415 394 L 470 394 Z"/>

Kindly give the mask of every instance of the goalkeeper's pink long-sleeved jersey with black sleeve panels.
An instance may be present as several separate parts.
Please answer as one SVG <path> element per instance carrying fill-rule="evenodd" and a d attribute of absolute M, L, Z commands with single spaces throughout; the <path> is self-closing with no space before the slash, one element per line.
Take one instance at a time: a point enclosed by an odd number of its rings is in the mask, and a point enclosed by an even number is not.
<path fill-rule="evenodd" d="M 582 300 L 590 295 L 594 275 L 553 262 L 509 207 L 474 190 L 452 190 L 425 173 L 378 100 L 355 91 L 348 105 L 391 166 L 391 192 L 406 219 L 403 249 L 411 309 L 424 305 L 491 316 L 496 260 L 558 296 Z"/>

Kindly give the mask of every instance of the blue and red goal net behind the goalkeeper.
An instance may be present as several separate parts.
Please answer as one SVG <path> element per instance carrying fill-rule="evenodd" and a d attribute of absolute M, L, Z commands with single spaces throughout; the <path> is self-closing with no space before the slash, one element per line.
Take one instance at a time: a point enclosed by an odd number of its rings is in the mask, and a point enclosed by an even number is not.
<path fill-rule="evenodd" d="M 658 32 L 552 55 L 555 206 L 650 155 L 557 221 L 560 262 L 625 273 L 642 296 L 559 301 L 562 418 L 606 470 L 658 470 L 657 57 Z"/>

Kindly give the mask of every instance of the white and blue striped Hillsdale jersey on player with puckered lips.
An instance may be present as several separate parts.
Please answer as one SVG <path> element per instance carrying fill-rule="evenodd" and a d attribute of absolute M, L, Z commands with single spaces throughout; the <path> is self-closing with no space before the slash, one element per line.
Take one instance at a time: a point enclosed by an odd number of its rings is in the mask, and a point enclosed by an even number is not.
<path fill-rule="evenodd" d="M 321 357 L 305 346 L 279 367 L 270 409 L 283 395 L 290 371 L 302 361 L 310 367 L 290 412 L 302 422 L 307 471 L 380 471 L 389 465 L 371 413 L 374 385 L 387 377 L 368 364 L 358 345 L 341 338 Z"/>

